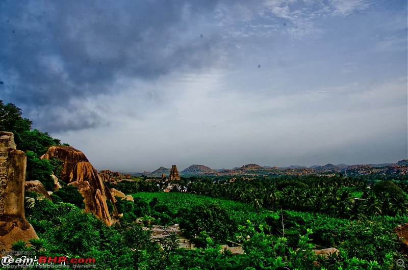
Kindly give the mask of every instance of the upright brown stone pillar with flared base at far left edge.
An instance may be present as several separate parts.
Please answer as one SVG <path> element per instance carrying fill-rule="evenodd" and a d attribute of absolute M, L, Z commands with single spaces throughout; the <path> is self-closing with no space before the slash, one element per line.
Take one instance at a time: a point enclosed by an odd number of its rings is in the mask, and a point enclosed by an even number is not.
<path fill-rule="evenodd" d="M 0 249 L 15 241 L 38 238 L 24 216 L 24 181 L 27 156 L 16 150 L 11 132 L 0 131 Z"/>

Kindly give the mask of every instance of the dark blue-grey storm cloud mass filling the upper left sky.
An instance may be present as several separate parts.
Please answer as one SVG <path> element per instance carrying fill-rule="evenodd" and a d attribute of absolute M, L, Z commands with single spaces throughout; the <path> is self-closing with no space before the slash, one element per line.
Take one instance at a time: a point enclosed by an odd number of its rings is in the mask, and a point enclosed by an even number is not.
<path fill-rule="evenodd" d="M 222 50 L 215 34 L 202 38 L 194 29 L 216 1 L 0 5 L 0 98 L 22 107 L 47 131 L 103 124 L 81 99 L 117 91 L 120 78 L 150 80 L 208 67 Z"/>

